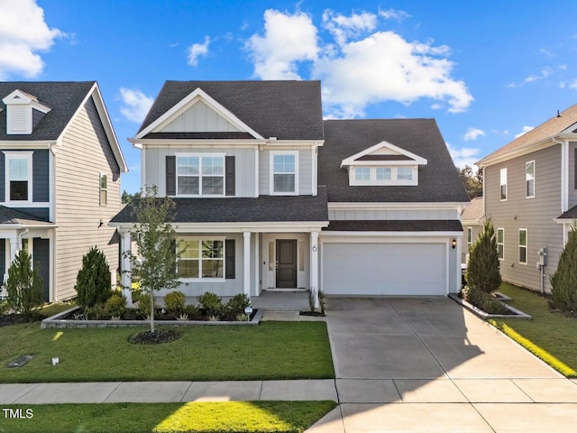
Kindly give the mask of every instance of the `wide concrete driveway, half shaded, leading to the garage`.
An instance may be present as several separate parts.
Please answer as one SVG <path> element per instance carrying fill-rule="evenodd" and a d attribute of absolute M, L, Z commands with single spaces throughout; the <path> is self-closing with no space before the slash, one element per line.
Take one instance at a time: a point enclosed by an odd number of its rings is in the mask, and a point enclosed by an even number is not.
<path fill-rule="evenodd" d="M 310 432 L 574 431 L 577 383 L 451 299 L 329 298 L 326 320 L 341 404 Z"/>

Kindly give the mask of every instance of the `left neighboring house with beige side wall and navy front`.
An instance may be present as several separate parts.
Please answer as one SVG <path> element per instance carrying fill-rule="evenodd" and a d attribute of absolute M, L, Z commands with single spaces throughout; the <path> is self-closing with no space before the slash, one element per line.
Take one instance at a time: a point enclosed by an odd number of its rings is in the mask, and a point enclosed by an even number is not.
<path fill-rule="evenodd" d="M 45 300 L 69 299 L 82 256 L 105 252 L 111 282 L 126 171 L 95 81 L 0 82 L 0 274 L 25 249 Z"/>

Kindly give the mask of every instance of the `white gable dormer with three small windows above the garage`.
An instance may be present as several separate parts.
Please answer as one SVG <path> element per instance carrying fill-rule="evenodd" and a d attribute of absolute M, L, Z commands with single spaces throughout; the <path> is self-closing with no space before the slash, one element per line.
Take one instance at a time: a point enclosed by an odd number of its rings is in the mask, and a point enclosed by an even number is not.
<path fill-rule="evenodd" d="M 417 186 L 418 167 L 426 159 L 381 142 L 341 162 L 349 172 L 349 186 Z"/>

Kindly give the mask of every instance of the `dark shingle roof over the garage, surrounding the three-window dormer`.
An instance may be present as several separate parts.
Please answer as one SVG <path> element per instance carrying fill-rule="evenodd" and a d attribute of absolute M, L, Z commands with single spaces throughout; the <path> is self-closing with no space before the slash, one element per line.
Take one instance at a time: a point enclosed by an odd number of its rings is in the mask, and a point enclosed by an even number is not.
<path fill-rule="evenodd" d="M 418 186 L 349 186 L 341 161 L 383 141 L 427 160 L 418 169 Z M 318 184 L 327 186 L 329 202 L 469 201 L 435 119 L 326 120 Z"/>

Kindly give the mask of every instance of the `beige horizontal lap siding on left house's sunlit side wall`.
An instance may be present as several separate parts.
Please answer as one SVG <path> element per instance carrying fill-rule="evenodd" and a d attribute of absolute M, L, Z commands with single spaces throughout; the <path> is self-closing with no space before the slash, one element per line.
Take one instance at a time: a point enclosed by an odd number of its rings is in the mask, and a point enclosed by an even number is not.
<path fill-rule="evenodd" d="M 121 209 L 120 169 L 92 98 L 78 111 L 55 151 L 55 291 L 56 299 L 68 299 L 76 296 L 82 256 L 92 246 L 105 253 L 111 272 L 119 265 L 118 236 L 108 221 Z M 100 206 L 100 173 L 107 176 L 105 206 Z"/>

